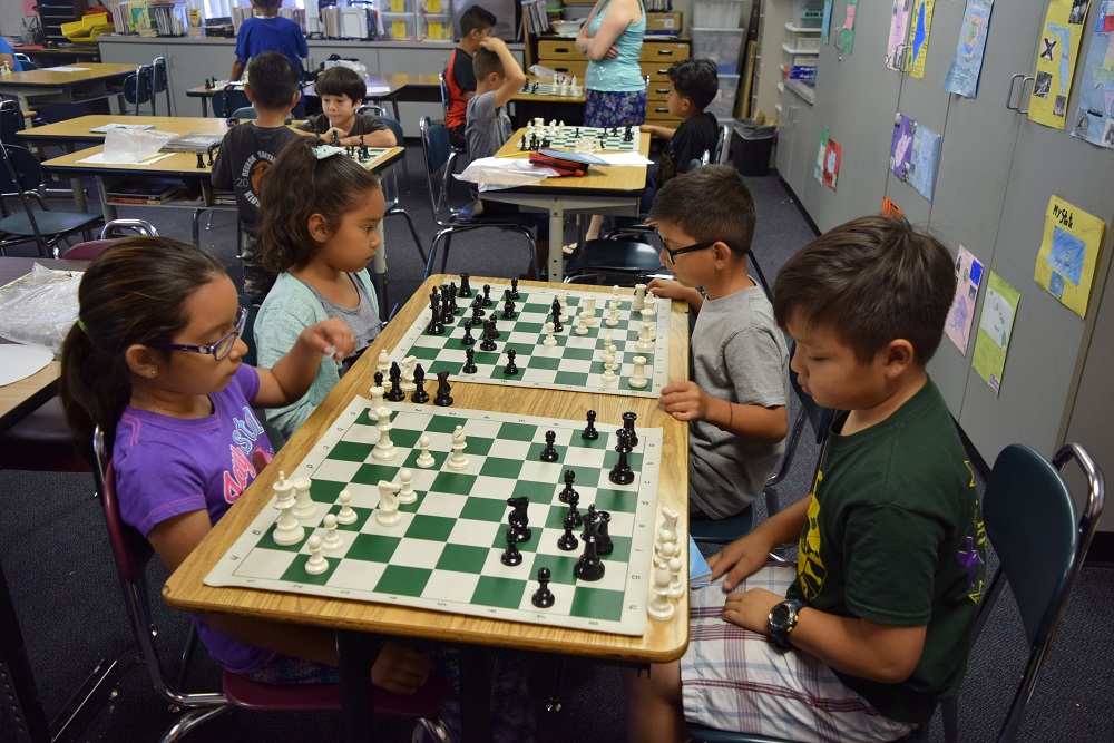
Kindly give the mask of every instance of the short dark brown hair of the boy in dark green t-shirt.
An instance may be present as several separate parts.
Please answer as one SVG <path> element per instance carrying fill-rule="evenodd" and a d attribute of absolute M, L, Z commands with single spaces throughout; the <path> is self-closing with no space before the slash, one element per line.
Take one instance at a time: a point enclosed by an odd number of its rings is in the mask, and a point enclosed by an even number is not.
<path fill-rule="evenodd" d="M 956 266 L 940 241 L 905 219 L 866 216 L 830 229 L 791 257 L 773 287 L 773 312 L 822 325 L 868 363 L 905 339 L 921 365 L 936 353 L 956 291 Z"/>

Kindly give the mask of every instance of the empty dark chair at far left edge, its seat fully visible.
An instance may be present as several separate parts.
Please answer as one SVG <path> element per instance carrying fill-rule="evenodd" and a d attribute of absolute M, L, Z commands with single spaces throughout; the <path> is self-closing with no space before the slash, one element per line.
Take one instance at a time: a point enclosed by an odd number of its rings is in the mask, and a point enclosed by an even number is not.
<path fill-rule="evenodd" d="M 0 255 L 10 245 L 33 242 L 42 256 L 58 257 L 58 244 L 79 232 L 88 233 L 104 223 L 100 214 L 88 212 L 51 212 L 36 193 L 42 185 L 39 160 L 28 149 L 0 143 L 0 194 L 18 195 L 22 209 L 0 219 Z M 42 211 L 31 208 L 31 199 Z M 87 236 L 88 237 L 88 236 Z"/>

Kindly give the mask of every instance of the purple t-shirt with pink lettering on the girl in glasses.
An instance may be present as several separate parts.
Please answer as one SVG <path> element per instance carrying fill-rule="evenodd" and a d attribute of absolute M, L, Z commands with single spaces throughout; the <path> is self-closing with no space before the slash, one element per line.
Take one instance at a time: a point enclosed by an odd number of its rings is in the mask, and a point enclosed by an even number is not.
<path fill-rule="evenodd" d="M 221 520 L 255 479 L 252 454 L 274 454 L 252 410 L 258 390 L 258 373 L 244 364 L 224 390 L 208 395 L 213 413 L 204 418 L 125 408 L 113 448 L 124 521 L 148 537 L 157 525 L 190 511 L 206 511 L 211 524 Z M 213 659 L 228 671 L 254 671 L 273 655 L 193 620 Z"/>

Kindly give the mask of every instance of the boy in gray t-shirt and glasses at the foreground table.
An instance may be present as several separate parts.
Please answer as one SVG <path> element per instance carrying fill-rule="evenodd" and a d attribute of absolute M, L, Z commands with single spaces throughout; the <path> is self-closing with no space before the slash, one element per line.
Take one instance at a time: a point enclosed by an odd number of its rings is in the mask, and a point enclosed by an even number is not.
<path fill-rule="evenodd" d="M 693 381 L 666 385 L 661 404 L 688 422 L 691 514 L 722 519 L 762 492 L 789 431 L 789 349 L 770 300 L 746 274 L 754 202 L 734 168 L 705 165 L 667 182 L 649 216 L 676 281 L 655 278 L 648 289 L 698 313 Z"/>

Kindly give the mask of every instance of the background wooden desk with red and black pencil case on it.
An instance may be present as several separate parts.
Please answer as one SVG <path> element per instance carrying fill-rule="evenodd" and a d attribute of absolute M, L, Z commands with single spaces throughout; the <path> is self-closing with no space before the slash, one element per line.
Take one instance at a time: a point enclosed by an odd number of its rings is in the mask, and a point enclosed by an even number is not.
<path fill-rule="evenodd" d="M 526 129 L 519 129 L 499 148 L 496 157 L 528 157 L 518 148 Z M 638 153 L 649 156 L 649 135 L 638 134 Z M 559 282 L 564 267 L 561 235 L 565 214 L 638 214 L 646 187 L 645 165 L 592 166 L 583 177 L 546 178 L 532 186 L 483 192 L 483 198 L 531 206 L 549 212 L 549 281 Z M 671 379 L 676 379 L 671 377 Z"/>

